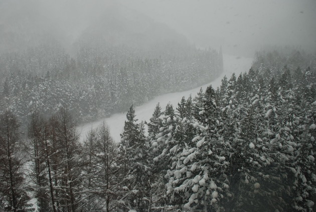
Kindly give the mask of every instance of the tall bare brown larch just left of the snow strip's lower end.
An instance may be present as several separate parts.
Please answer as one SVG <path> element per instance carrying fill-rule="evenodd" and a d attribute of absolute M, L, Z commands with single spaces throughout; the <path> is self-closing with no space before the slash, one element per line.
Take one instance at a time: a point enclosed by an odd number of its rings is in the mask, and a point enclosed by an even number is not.
<path fill-rule="evenodd" d="M 78 140 L 75 122 L 66 109 L 57 113 L 56 139 L 61 160 L 59 161 L 60 207 L 74 212 L 80 209 L 82 202 L 81 144 Z"/>

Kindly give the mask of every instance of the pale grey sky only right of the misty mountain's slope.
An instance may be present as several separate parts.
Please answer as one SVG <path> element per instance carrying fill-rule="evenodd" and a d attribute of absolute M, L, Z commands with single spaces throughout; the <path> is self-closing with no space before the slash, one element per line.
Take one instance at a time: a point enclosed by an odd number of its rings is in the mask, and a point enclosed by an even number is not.
<path fill-rule="evenodd" d="M 316 0 L 120 0 L 167 23 L 197 46 L 316 49 Z"/>

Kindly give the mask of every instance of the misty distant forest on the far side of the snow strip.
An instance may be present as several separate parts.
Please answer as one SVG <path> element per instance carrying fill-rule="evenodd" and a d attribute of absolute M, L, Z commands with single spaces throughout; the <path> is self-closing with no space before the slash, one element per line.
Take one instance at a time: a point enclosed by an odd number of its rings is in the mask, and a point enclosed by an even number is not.
<path fill-rule="evenodd" d="M 32 109 L 53 114 L 64 107 L 85 121 L 207 83 L 222 71 L 222 55 L 215 50 L 172 46 L 144 52 L 82 42 L 72 58 L 52 43 L 3 54 L 0 109 L 11 108 L 25 120 Z"/>

